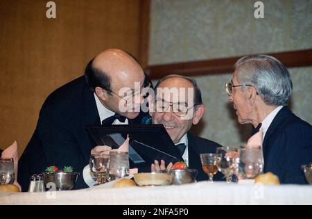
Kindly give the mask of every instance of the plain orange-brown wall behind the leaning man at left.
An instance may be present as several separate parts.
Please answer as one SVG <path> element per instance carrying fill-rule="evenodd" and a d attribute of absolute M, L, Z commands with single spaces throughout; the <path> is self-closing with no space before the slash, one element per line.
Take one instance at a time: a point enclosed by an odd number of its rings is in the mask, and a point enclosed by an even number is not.
<path fill-rule="evenodd" d="M 139 0 L 0 1 L 0 148 L 22 152 L 44 99 L 110 47 L 139 52 Z"/>

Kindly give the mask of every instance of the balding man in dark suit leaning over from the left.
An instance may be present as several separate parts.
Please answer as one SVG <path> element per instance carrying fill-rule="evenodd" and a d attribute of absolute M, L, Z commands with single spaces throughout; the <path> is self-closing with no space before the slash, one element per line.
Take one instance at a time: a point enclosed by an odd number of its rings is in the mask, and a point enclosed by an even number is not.
<path fill-rule="evenodd" d="M 80 172 L 74 188 L 87 188 L 83 167 L 89 163 L 90 150 L 95 145 L 85 126 L 148 123 L 149 115 L 140 113 L 143 98 L 133 98 L 145 81 L 144 71 L 130 54 L 107 49 L 89 62 L 85 76 L 49 95 L 35 133 L 19 160 L 22 190 L 28 189 L 31 174 L 44 172 L 51 165 L 73 167 Z"/>

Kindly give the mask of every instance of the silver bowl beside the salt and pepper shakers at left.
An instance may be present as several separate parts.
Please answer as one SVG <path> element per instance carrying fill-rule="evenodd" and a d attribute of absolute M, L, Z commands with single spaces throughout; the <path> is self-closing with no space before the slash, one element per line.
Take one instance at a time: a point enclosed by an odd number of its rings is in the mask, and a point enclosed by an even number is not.
<path fill-rule="evenodd" d="M 44 172 L 42 173 L 44 185 L 54 188 L 53 185 L 47 185 L 49 183 L 55 184 L 55 190 L 71 190 L 75 186 L 78 179 L 78 172 Z"/>

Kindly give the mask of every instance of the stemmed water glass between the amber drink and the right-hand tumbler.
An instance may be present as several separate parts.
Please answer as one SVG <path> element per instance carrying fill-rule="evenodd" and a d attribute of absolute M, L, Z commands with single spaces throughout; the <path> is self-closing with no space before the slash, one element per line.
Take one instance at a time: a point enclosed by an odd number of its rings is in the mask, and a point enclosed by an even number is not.
<path fill-rule="evenodd" d="M 236 181 L 233 175 L 238 168 L 237 157 L 239 149 L 237 147 L 217 147 L 216 153 L 220 154 L 221 159 L 218 165 L 219 171 L 225 175 L 227 183 Z"/>

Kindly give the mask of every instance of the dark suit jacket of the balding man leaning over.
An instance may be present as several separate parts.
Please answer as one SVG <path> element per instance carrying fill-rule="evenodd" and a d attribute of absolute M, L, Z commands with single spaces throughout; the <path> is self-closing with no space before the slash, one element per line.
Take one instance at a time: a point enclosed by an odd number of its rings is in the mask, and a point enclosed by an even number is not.
<path fill-rule="evenodd" d="M 149 115 L 140 113 L 129 124 L 146 124 Z M 101 125 L 94 93 L 81 76 L 55 90 L 44 102 L 35 133 L 19 159 L 18 181 L 22 190 L 28 189 L 31 174 L 44 172 L 55 165 L 72 166 L 80 172 L 74 189 L 87 188 L 83 168 L 89 163 L 94 142 L 86 125 Z"/>

